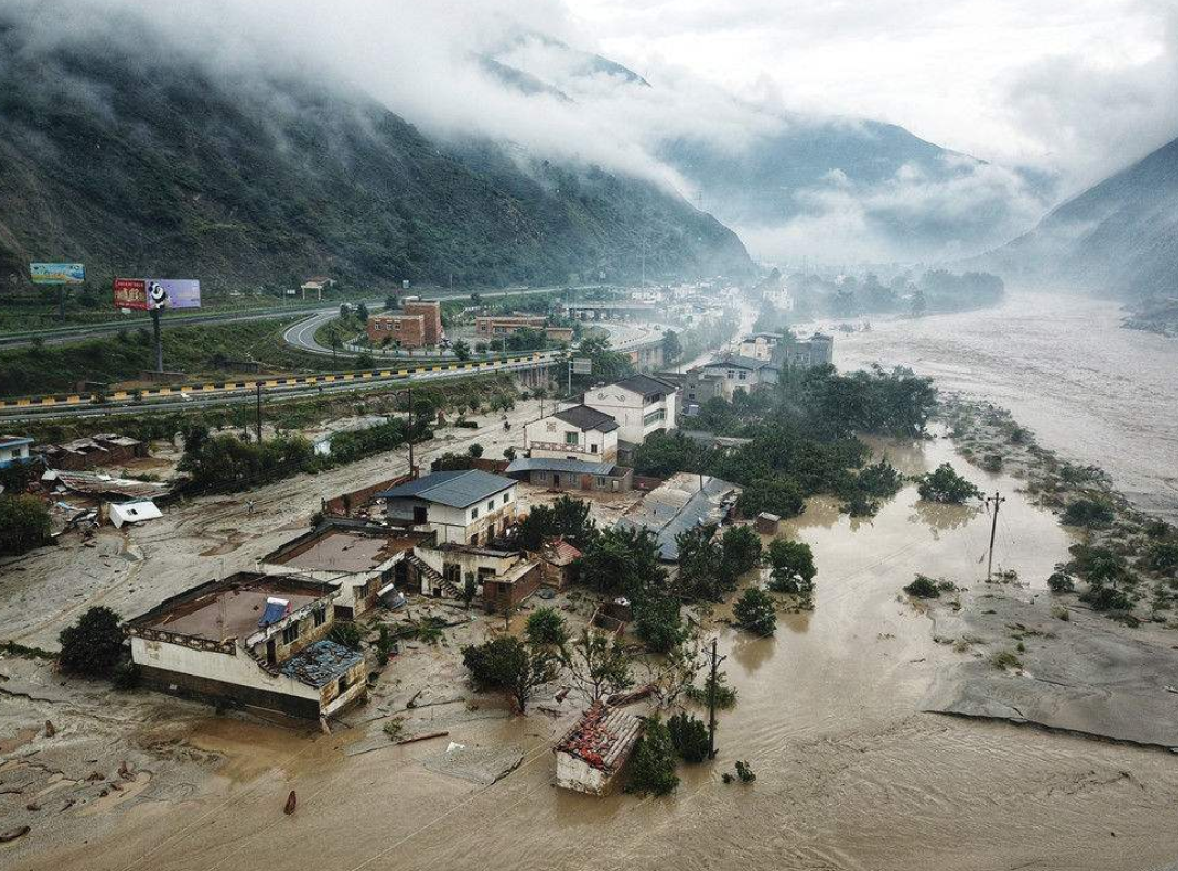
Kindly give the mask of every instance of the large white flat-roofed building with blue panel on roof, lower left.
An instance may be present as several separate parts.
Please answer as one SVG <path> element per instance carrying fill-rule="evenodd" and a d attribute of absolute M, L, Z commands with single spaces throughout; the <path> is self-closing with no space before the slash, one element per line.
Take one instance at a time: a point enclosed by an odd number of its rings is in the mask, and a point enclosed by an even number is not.
<path fill-rule="evenodd" d="M 335 587 L 241 572 L 173 596 L 124 626 L 144 680 L 297 717 L 368 693 L 364 656 L 327 640 Z"/>

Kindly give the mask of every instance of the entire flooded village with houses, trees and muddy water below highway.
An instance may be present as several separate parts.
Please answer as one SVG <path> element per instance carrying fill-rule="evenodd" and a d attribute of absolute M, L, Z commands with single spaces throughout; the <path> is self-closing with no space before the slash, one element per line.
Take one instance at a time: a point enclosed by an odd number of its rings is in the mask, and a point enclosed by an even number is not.
<path fill-rule="evenodd" d="M 183 438 L 26 450 L 66 508 L 2 569 L 6 866 L 1160 866 L 1172 527 L 1001 409 L 749 330 L 765 296 L 412 464 L 200 495 Z M 104 613 L 106 674 L 66 667 Z"/>

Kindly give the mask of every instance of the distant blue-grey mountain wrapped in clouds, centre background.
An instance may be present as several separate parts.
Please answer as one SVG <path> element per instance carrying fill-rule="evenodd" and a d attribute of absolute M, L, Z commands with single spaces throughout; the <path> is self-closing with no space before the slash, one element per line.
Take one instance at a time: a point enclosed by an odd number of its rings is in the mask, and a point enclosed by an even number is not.
<path fill-rule="evenodd" d="M 662 107 L 643 131 L 650 150 L 702 209 L 768 256 L 957 259 L 1024 232 L 1052 194 L 1050 177 L 991 165 L 904 127 L 742 104 L 697 84 L 697 92 L 676 93 L 682 83 L 651 84 L 542 34 L 508 41 L 489 72 L 505 87 L 583 108 L 629 105 L 631 124 Z"/>

